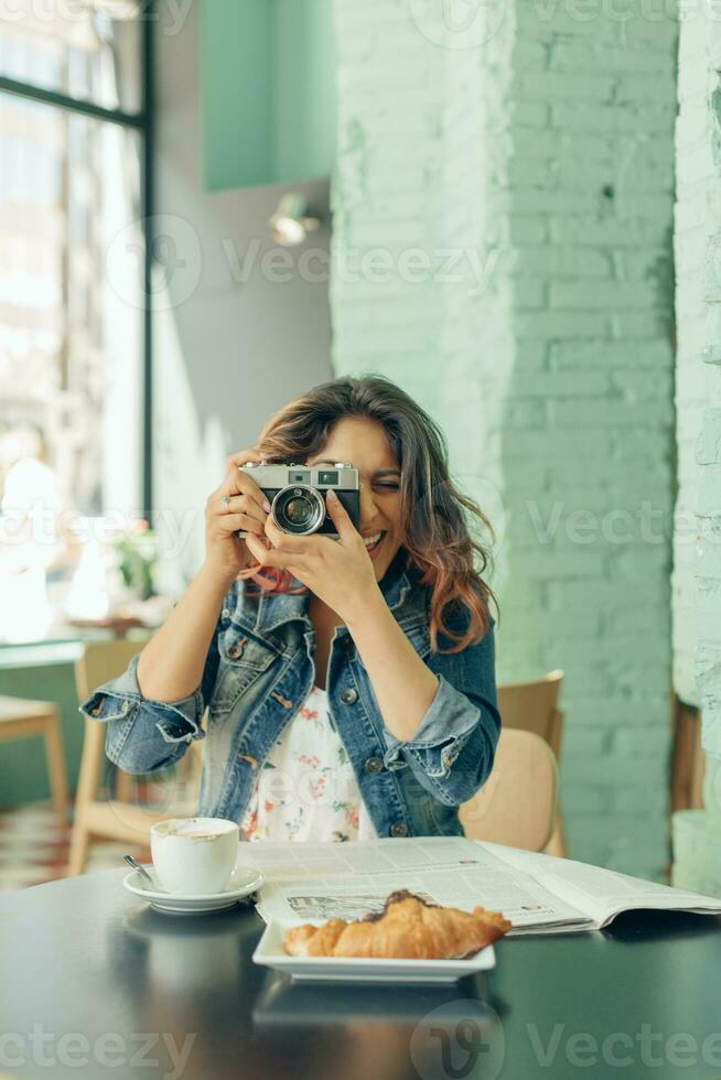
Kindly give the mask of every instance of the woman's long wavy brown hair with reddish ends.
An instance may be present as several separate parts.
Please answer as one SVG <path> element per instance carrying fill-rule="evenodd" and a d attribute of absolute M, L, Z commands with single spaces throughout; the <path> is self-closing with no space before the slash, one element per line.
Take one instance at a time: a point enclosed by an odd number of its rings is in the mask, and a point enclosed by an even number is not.
<path fill-rule="evenodd" d="M 419 583 L 430 590 L 431 648 L 460 652 L 485 636 L 491 601 L 497 611 L 482 576 L 491 565 L 489 552 L 471 536 L 467 516 L 489 538 L 493 529 L 451 479 L 445 439 L 431 417 L 384 376 L 345 376 L 314 387 L 275 413 L 256 449 L 269 463 L 304 463 L 322 451 L 335 424 L 351 417 L 373 420 L 386 432 L 400 469 L 407 566 L 416 568 Z M 290 574 L 256 565 L 241 576 L 250 574 L 263 590 L 290 591 Z M 450 648 L 439 650 L 439 633 L 451 641 Z"/>

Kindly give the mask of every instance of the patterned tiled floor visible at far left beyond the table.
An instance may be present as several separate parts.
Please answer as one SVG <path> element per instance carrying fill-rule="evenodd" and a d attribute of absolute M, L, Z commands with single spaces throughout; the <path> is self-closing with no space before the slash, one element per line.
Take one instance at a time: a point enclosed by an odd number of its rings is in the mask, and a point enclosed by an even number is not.
<path fill-rule="evenodd" d="M 50 802 L 0 811 L 0 893 L 65 877 L 71 825 L 60 825 Z M 118 841 L 92 844 L 87 872 L 122 866 L 126 852 L 148 862 L 150 852 Z"/>

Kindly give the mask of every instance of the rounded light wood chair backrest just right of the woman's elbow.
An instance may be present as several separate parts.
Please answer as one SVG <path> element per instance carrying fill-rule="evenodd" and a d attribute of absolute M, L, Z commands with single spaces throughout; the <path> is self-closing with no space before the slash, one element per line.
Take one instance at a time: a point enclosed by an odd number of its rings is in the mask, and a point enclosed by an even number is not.
<path fill-rule="evenodd" d="M 491 776 L 460 809 L 471 840 L 544 851 L 556 823 L 558 767 L 534 732 L 502 731 Z"/>

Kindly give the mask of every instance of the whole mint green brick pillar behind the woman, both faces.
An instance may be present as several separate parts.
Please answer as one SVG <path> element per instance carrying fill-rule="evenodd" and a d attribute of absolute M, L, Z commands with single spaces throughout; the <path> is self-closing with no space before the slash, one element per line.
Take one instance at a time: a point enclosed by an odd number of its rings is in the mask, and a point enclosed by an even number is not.
<path fill-rule="evenodd" d="M 498 673 L 567 671 L 573 854 L 660 876 L 676 25 L 509 2 L 463 47 L 430 8 L 335 3 L 334 366 L 428 407 L 501 526 Z M 342 280 L 377 246 L 383 287 Z M 475 250 L 481 287 L 409 282 L 409 248 Z"/>

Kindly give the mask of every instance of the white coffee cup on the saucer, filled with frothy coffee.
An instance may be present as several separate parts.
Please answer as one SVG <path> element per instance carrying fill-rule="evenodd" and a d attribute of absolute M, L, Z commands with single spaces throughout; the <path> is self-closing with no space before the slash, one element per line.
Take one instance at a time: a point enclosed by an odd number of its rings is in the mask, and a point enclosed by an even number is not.
<path fill-rule="evenodd" d="M 150 851 L 160 884 L 169 893 L 207 896 L 227 884 L 238 854 L 236 821 L 169 818 L 150 830 Z"/>

